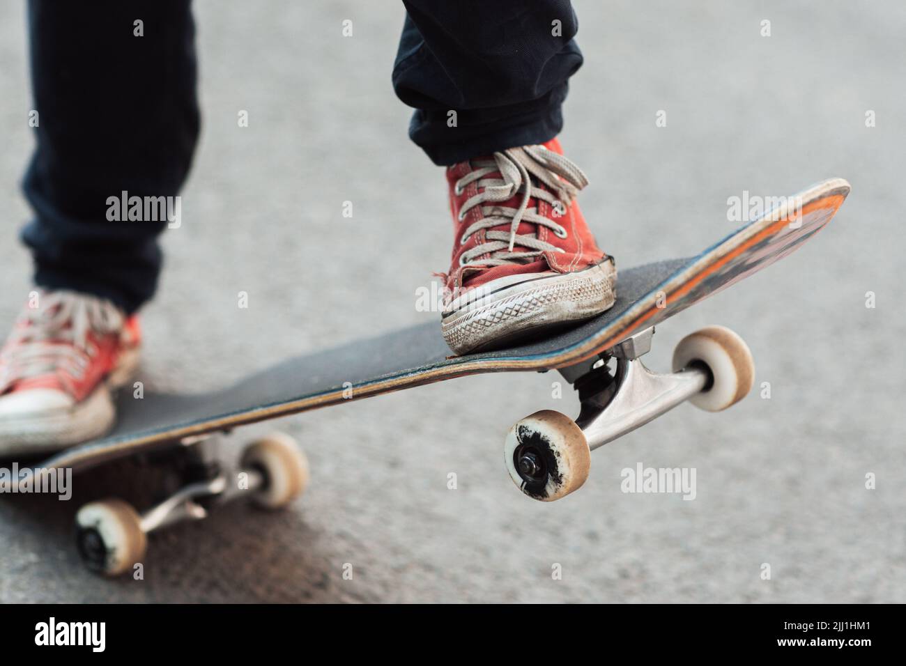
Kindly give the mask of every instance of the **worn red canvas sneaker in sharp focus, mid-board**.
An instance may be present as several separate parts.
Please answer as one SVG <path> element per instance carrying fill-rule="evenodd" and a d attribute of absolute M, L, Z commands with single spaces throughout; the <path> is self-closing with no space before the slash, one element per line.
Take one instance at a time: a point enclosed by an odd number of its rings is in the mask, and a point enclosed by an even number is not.
<path fill-rule="evenodd" d="M 574 198 L 588 183 L 559 142 L 447 169 L 456 239 L 441 325 L 457 353 L 514 343 L 612 306 L 616 268 Z"/>

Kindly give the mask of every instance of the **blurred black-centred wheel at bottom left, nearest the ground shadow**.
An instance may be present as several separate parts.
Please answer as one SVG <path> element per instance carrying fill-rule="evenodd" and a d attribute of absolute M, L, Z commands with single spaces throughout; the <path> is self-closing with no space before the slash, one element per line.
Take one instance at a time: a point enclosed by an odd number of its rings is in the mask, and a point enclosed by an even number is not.
<path fill-rule="evenodd" d="M 75 515 L 79 555 L 92 571 L 120 575 L 145 556 L 148 537 L 141 518 L 121 499 L 91 502 Z"/>

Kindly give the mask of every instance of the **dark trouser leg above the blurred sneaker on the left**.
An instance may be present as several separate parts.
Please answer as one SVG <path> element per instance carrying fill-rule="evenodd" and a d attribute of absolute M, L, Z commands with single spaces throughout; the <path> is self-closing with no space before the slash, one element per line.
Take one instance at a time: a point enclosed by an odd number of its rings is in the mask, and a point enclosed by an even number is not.
<path fill-rule="evenodd" d="M 175 196 L 186 179 L 198 138 L 190 2 L 31 0 L 29 28 L 35 282 L 134 312 L 154 294 L 166 223 L 109 221 L 107 198 Z"/>

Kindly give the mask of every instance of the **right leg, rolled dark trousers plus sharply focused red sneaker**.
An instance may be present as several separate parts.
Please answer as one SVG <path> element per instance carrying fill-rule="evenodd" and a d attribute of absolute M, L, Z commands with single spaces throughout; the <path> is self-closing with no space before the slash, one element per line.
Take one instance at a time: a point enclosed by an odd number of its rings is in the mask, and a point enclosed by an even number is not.
<path fill-rule="evenodd" d="M 410 137 L 448 166 L 449 347 L 504 347 L 601 314 L 614 303 L 616 269 L 575 202 L 588 180 L 556 139 L 567 80 L 582 64 L 572 6 L 403 1 L 393 83 L 417 109 Z"/>

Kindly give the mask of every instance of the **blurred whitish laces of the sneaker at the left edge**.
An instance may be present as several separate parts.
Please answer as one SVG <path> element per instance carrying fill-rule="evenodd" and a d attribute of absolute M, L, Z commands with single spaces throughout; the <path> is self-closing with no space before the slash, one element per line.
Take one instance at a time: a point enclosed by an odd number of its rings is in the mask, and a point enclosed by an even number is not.
<path fill-rule="evenodd" d="M 119 333 L 123 315 L 109 301 L 86 294 L 39 294 L 26 308 L 0 353 L 0 394 L 17 381 L 63 370 L 81 379 L 97 347 L 91 332 Z"/>

